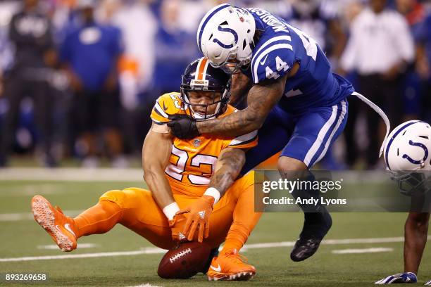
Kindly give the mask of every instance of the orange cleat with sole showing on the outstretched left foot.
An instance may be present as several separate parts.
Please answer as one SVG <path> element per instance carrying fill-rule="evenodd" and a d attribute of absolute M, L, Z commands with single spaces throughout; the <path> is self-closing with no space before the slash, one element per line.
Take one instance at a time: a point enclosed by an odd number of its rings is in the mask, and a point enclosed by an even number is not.
<path fill-rule="evenodd" d="M 58 247 L 65 252 L 76 248 L 76 234 L 73 219 L 54 208 L 43 196 L 32 198 L 32 212 L 36 222 L 48 232 Z"/>

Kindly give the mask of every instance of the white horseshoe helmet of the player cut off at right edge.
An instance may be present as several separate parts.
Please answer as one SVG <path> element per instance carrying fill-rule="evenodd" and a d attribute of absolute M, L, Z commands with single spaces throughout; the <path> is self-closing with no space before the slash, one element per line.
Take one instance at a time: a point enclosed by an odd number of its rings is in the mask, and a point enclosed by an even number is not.
<path fill-rule="evenodd" d="M 385 162 L 402 193 L 430 189 L 431 126 L 411 120 L 396 127 L 385 142 Z"/>

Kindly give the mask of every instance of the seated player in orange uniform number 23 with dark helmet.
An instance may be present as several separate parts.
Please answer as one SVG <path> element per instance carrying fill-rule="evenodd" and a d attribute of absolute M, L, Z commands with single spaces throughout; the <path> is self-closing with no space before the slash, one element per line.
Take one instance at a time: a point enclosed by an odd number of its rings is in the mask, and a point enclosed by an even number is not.
<path fill-rule="evenodd" d="M 211 248 L 225 241 L 211 262 L 208 279 L 250 279 L 256 269 L 238 251 L 261 213 L 254 212 L 254 174 L 237 177 L 246 149 L 257 144 L 257 132 L 237 138 L 201 135 L 182 140 L 166 125 L 175 114 L 208 120 L 235 113 L 227 104 L 229 88 L 230 76 L 209 65 L 206 58 L 195 60 L 182 77 L 181 93 L 159 97 L 151 113 L 153 125 L 142 148 L 149 191 L 108 191 L 75 218 L 35 196 L 36 221 L 63 251 L 74 250 L 77 238 L 106 233 L 117 223 L 165 249 L 186 239 L 204 241 Z"/>

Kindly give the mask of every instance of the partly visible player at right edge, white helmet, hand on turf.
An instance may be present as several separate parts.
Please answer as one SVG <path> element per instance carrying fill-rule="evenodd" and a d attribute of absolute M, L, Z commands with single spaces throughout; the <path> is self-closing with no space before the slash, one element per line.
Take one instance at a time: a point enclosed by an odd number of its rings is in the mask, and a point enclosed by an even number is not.
<path fill-rule="evenodd" d="M 430 149 L 431 126 L 420 120 L 402 123 L 389 134 L 385 143 L 387 171 L 398 181 L 399 191 L 411 197 L 411 207 L 404 225 L 404 272 L 387 276 L 375 284 L 418 282 L 431 211 Z M 425 283 L 430 284 L 431 281 Z"/>

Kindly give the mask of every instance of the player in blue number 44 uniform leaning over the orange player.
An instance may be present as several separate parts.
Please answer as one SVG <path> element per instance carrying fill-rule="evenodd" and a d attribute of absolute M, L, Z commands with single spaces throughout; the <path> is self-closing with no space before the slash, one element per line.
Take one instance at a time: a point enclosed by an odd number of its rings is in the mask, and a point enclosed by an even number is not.
<path fill-rule="evenodd" d="M 325 53 L 314 39 L 268 11 L 230 4 L 216 6 L 201 20 L 197 44 L 211 65 L 234 74 L 234 81 L 244 76 L 249 79 L 252 86 L 247 106 L 227 117 L 204 122 L 178 115 L 168 126 L 179 138 L 199 134 L 238 136 L 259 129 L 258 146 L 247 153 L 243 172 L 279 151 L 282 177 L 287 178 L 292 171 L 307 171 L 343 131 L 346 97 L 356 94 L 370 103 L 354 92 L 350 82 L 331 72 Z M 242 84 L 245 87 L 249 83 Z M 235 85 L 233 90 L 241 90 Z M 378 107 L 370 105 L 385 117 Z M 386 123 L 389 125 L 387 118 Z M 309 206 L 308 210 L 301 208 L 305 222 L 291 253 L 294 261 L 316 253 L 332 225 L 322 205 L 312 210 Z"/>

